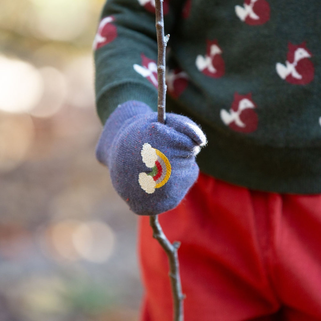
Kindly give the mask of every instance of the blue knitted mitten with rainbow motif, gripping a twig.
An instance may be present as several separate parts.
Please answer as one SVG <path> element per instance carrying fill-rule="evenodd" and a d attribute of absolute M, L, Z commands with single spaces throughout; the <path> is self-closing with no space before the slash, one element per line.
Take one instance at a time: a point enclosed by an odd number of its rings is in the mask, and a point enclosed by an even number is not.
<path fill-rule="evenodd" d="M 140 215 L 176 207 L 198 176 L 195 156 L 206 144 L 188 117 L 157 113 L 139 101 L 119 105 L 109 116 L 96 149 L 117 193 Z"/>

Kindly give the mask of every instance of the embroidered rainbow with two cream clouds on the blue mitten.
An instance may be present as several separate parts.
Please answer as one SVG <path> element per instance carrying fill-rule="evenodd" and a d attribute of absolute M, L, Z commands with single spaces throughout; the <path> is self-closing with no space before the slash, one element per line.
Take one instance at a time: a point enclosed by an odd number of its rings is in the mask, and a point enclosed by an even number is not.
<path fill-rule="evenodd" d="M 146 193 L 152 194 L 156 188 L 160 188 L 167 183 L 171 166 L 168 158 L 149 143 L 143 144 L 141 155 L 145 165 L 152 171 L 148 174 L 145 172 L 139 173 L 138 182 Z"/>

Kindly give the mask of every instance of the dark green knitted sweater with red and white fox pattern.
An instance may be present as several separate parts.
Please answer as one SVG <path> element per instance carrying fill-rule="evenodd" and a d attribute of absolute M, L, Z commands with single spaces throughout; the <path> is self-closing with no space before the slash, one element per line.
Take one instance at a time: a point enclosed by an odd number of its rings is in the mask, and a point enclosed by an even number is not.
<path fill-rule="evenodd" d="M 153 0 L 108 0 L 94 40 L 97 110 L 157 106 Z M 164 0 L 167 111 L 200 124 L 201 171 L 251 189 L 321 193 L 319 0 Z"/>

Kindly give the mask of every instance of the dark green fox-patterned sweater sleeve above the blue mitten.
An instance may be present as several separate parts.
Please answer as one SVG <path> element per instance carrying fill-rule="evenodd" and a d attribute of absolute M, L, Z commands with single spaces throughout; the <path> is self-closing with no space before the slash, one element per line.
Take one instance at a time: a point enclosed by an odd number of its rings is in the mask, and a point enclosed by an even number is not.
<path fill-rule="evenodd" d="M 180 0 L 164 0 L 165 34 Z M 170 4 L 169 4 L 170 3 Z M 104 124 L 128 100 L 157 110 L 157 38 L 153 0 L 108 0 L 93 43 L 96 105 Z"/>

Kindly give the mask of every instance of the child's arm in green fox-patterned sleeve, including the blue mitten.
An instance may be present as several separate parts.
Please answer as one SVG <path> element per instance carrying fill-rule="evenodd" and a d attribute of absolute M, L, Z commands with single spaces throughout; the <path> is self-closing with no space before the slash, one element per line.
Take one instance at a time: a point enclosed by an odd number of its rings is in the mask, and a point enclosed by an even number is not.
<path fill-rule="evenodd" d="M 166 32 L 180 2 L 164 4 Z M 97 109 L 105 123 L 96 155 L 118 194 L 142 215 L 179 204 L 198 176 L 195 156 L 206 143 L 187 117 L 167 114 L 166 125 L 157 122 L 155 13 L 148 10 L 150 1 L 108 0 L 94 41 Z"/>

